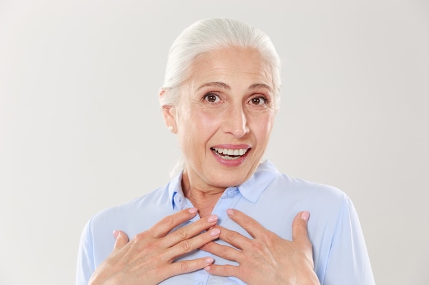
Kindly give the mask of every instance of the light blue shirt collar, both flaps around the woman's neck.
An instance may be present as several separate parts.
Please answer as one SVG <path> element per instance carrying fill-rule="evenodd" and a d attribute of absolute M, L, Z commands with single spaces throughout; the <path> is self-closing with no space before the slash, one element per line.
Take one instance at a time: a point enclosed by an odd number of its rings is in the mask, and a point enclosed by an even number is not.
<path fill-rule="evenodd" d="M 171 198 L 171 208 L 184 208 L 186 198 L 182 191 L 182 173 L 175 176 L 168 185 L 169 197 Z M 275 168 L 271 161 L 260 163 L 256 171 L 242 185 L 238 185 L 238 190 L 244 198 L 252 203 L 258 202 L 262 192 L 267 189 L 268 185 L 278 176 L 278 169 Z"/>

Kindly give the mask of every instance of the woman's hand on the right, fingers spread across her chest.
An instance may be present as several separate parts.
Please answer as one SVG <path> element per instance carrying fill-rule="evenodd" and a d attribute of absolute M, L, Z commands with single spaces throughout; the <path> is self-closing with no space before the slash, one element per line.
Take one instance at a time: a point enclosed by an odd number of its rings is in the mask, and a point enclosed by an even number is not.
<path fill-rule="evenodd" d="M 312 245 L 308 239 L 309 213 L 298 213 L 292 224 L 292 239 L 288 241 L 265 229 L 241 211 L 229 209 L 230 219 L 243 227 L 253 239 L 221 226 L 219 239 L 233 245 L 207 243 L 202 250 L 227 260 L 234 265 L 211 264 L 206 271 L 213 275 L 234 276 L 253 284 L 315 285 L 320 284 L 314 271 Z"/>

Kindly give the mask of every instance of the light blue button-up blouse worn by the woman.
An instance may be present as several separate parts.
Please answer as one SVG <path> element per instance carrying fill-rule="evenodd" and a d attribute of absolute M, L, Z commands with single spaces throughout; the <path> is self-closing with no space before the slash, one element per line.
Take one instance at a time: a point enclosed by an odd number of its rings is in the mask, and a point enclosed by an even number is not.
<path fill-rule="evenodd" d="M 123 230 L 130 239 L 157 221 L 193 205 L 184 197 L 177 176 L 168 185 L 121 206 L 101 211 L 82 232 L 77 260 L 77 285 L 86 285 L 98 265 L 112 252 L 113 230 Z M 280 174 L 269 161 L 261 163 L 243 185 L 229 187 L 213 209 L 218 224 L 249 236 L 226 215 L 236 208 L 268 230 L 292 239 L 291 226 L 299 211 L 309 211 L 308 235 L 313 246 L 315 272 L 325 285 L 373 285 L 371 265 L 358 216 L 350 199 L 334 187 Z M 199 219 L 193 218 L 190 223 Z M 186 224 L 186 223 L 185 223 Z M 249 236 L 250 237 L 250 236 Z M 218 241 L 223 243 L 223 241 Z M 195 251 L 186 259 L 209 256 Z M 213 256 L 216 264 L 235 264 Z M 203 269 L 164 280 L 162 285 L 245 284 L 235 277 L 210 275 Z"/>

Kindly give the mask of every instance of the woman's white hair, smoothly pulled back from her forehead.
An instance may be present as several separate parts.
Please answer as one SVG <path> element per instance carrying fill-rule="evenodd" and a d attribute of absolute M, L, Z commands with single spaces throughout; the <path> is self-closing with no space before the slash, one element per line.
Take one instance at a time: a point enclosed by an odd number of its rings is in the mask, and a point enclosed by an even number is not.
<path fill-rule="evenodd" d="M 191 66 L 203 53 L 231 46 L 256 49 L 271 66 L 274 107 L 280 107 L 280 58 L 269 37 L 254 27 L 228 18 L 208 18 L 184 29 L 169 51 L 160 105 L 177 106 L 180 87 L 191 77 Z"/>

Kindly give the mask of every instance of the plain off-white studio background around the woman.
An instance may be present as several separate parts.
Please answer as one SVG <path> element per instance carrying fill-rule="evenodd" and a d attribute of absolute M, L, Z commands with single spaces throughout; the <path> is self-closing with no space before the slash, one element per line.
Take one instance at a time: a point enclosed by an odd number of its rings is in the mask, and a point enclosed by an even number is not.
<path fill-rule="evenodd" d="M 266 157 L 350 195 L 377 284 L 428 284 L 424 0 L 0 0 L 0 284 L 74 284 L 90 216 L 169 180 L 167 52 L 212 16 L 282 58 Z"/>

